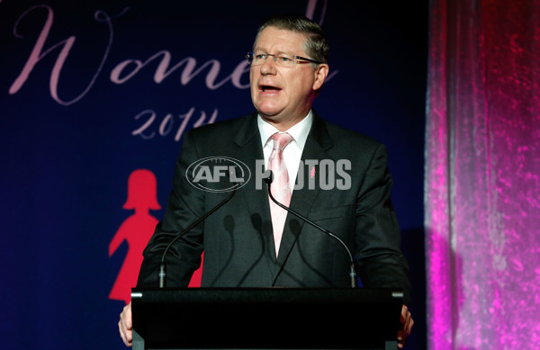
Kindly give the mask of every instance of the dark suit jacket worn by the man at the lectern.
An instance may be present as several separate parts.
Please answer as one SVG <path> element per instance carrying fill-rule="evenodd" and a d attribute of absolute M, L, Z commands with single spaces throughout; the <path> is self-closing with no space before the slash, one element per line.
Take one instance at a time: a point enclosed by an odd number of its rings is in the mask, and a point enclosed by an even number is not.
<path fill-rule="evenodd" d="M 246 164 L 251 180 L 230 202 L 179 239 L 166 257 L 167 286 L 184 287 L 201 262 L 203 287 L 347 287 L 348 256 L 333 238 L 289 214 L 275 258 L 266 187 L 256 184 L 256 159 L 263 159 L 257 114 L 206 125 L 184 135 L 173 189 L 163 220 L 144 251 L 138 287 L 157 286 L 157 265 L 170 239 L 209 211 L 229 193 L 193 187 L 185 170 L 204 157 L 231 157 Z M 302 190 L 294 190 L 290 208 L 343 239 L 356 256 L 366 287 L 398 287 L 409 300 L 409 270 L 400 250 L 401 231 L 392 209 L 392 177 L 386 149 L 352 130 L 315 114 L 302 160 L 348 159 L 351 188 L 320 188 L 324 169 L 304 164 Z M 302 164 L 301 164 L 302 166 Z M 328 172 L 327 172 L 328 173 Z"/>

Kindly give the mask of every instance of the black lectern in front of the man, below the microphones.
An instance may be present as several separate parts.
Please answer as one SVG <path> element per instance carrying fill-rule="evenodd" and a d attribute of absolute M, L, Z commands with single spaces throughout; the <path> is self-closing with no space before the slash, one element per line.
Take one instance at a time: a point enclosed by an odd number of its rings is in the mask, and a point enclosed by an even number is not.
<path fill-rule="evenodd" d="M 361 288 L 134 289 L 133 350 L 393 350 L 402 296 Z"/>

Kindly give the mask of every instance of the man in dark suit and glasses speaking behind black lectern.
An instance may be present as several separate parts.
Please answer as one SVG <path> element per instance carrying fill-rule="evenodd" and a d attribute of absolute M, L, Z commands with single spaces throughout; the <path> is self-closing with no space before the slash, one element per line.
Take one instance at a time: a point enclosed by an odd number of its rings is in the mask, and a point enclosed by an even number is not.
<path fill-rule="evenodd" d="M 254 176 L 170 248 L 167 286 L 187 286 L 203 251 L 202 287 L 350 285 L 344 248 L 269 201 L 257 174 L 261 164 L 278 164 L 275 196 L 341 238 L 355 255 L 366 287 L 401 288 L 408 304 L 409 270 L 392 209 L 386 150 L 323 121 L 311 109 L 329 74 L 329 45 L 319 25 L 302 16 L 274 17 L 259 29 L 247 59 L 257 112 L 185 134 L 166 213 L 144 252 L 138 287 L 157 286 L 157 266 L 171 238 L 228 195 L 196 188 L 186 170 L 206 157 L 228 157 Z M 400 347 L 413 324 L 406 305 L 401 313 Z M 119 328 L 130 346 L 130 304 Z"/>

